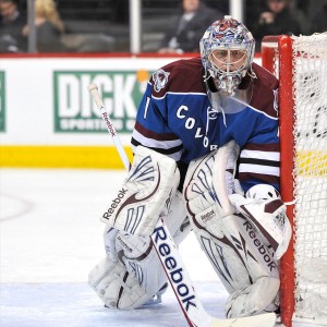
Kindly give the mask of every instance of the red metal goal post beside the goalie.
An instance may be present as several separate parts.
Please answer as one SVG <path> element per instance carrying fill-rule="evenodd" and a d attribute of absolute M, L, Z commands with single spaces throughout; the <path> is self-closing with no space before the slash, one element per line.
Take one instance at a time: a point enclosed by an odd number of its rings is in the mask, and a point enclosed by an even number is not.
<path fill-rule="evenodd" d="M 281 57 L 281 58 L 280 58 Z M 282 68 L 279 66 L 282 63 Z M 281 152 L 281 175 L 280 190 L 282 199 L 292 203 L 293 201 L 293 181 L 292 172 L 294 167 L 294 138 L 288 135 L 290 126 L 293 125 L 293 59 L 292 59 L 292 40 L 288 36 L 267 36 L 262 44 L 262 64 L 279 78 L 279 129 L 280 129 L 280 152 Z M 279 71 L 282 74 L 279 75 Z M 289 155 L 288 155 L 289 154 Z M 290 155 L 292 154 L 292 155 Z M 287 214 L 293 226 L 294 205 L 287 207 Z M 293 262 L 293 243 L 292 239 L 287 253 L 280 263 L 281 278 L 281 315 L 286 326 L 291 326 L 291 317 L 294 311 L 294 296 L 288 294 L 294 293 L 294 281 L 290 276 L 294 276 Z"/>

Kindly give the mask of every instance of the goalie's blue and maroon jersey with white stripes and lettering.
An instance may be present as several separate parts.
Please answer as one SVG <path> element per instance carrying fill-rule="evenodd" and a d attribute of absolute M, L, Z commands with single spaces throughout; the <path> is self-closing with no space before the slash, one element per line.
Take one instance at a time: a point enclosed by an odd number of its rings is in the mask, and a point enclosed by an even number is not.
<path fill-rule="evenodd" d="M 140 105 L 133 147 L 143 145 L 187 165 L 234 140 L 241 147 L 238 178 L 243 190 L 258 183 L 279 189 L 278 81 L 262 66 L 252 66 L 256 78 L 250 102 L 226 98 L 216 108 L 201 58 L 159 69 Z"/>

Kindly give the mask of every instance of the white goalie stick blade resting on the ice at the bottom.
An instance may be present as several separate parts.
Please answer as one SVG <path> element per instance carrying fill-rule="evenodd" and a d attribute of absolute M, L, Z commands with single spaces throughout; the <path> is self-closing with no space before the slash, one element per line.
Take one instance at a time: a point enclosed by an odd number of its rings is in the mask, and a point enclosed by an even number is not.
<path fill-rule="evenodd" d="M 241 317 L 234 319 L 211 318 L 210 327 L 274 327 L 276 314 L 266 313 L 256 316 Z"/>

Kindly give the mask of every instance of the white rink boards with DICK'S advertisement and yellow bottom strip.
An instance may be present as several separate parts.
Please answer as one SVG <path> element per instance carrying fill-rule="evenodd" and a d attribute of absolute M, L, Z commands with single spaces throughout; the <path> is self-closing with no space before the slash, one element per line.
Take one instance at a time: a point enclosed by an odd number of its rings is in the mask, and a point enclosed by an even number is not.
<path fill-rule="evenodd" d="M 185 58 L 0 56 L 0 167 L 122 168 L 87 86 L 99 86 L 131 154 L 131 132 L 150 74 Z"/>

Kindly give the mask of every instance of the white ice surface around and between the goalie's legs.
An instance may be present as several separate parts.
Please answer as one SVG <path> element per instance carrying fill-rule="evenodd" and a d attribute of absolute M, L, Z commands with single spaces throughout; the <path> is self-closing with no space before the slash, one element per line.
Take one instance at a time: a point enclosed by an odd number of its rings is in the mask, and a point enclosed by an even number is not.
<path fill-rule="evenodd" d="M 124 174 L 0 169 L 1 327 L 187 326 L 170 289 L 161 304 L 119 312 L 105 308 L 87 284 L 104 257 L 98 218 Z M 227 293 L 193 234 L 180 252 L 204 306 L 223 317 Z"/>

